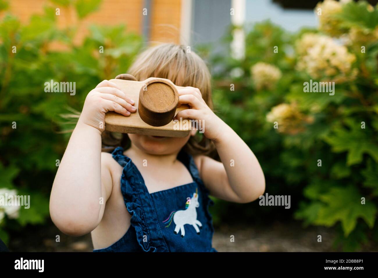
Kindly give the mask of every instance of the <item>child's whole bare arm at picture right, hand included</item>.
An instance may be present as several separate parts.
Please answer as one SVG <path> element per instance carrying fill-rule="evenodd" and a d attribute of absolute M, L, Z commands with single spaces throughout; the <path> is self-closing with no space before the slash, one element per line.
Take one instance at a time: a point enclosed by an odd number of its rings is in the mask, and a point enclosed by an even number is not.
<path fill-rule="evenodd" d="M 179 103 L 189 104 L 191 109 L 179 112 L 176 118 L 203 121 L 204 135 L 214 141 L 222 160 L 220 163 L 205 156 L 195 158 L 201 178 L 211 195 L 240 203 L 257 199 L 265 191 L 265 177 L 251 149 L 212 112 L 202 99 L 200 90 L 186 87 L 179 90 L 179 95 Z"/>

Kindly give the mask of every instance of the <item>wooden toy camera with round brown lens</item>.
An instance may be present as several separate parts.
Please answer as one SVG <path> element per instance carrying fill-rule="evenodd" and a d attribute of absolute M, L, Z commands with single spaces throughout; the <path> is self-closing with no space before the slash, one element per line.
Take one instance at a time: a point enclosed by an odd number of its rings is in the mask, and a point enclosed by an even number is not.
<path fill-rule="evenodd" d="M 137 111 L 128 117 L 107 112 L 106 130 L 167 137 L 186 137 L 189 134 L 189 124 L 173 121 L 178 112 L 189 108 L 184 104 L 177 108 L 178 89 L 183 87 L 164 78 L 150 77 L 136 81 L 134 76 L 128 74 L 118 75 L 110 81 L 135 101 Z"/>

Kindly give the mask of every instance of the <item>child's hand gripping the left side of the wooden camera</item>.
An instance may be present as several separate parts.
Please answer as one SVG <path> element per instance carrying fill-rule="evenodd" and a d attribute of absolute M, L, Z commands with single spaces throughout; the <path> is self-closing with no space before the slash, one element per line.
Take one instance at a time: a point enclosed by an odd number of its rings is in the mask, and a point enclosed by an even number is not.
<path fill-rule="evenodd" d="M 105 130 L 105 113 L 115 111 L 124 116 L 136 112 L 135 101 L 125 95 L 113 82 L 104 80 L 85 98 L 79 122 L 93 126 L 100 132 Z"/>

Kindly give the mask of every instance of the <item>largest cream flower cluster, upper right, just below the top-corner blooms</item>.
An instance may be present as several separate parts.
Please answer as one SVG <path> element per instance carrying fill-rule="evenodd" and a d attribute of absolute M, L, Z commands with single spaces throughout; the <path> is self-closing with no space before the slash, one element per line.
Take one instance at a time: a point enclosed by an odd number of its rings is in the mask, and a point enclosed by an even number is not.
<path fill-rule="evenodd" d="M 314 79 L 342 83 L 357 75 L 357 69 L 352 68 L 356 56 L 331 37 L 304 34 L 296 43 L 296 51 L 299 54 L 297 70 L 306 71 Z"/>

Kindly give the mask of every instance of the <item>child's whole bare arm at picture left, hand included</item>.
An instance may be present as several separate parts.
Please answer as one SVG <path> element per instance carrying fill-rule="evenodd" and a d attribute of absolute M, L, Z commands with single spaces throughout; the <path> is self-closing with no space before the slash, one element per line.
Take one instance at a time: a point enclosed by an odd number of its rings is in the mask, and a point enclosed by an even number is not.
<path fill-rule="evenodd" d="M 106 159 L 101 164 L 105 113 L 115 111 L 129 116 L 136 111 L 131 103 L 116 84 L 109 81 L 101 82 L 88 93 L 51 190 L 51 219 L 64 233 L 84 235 L 101 221 L 112 189 Z"/>

